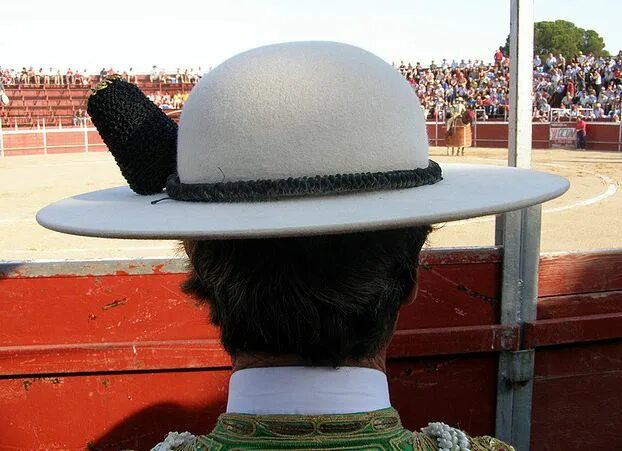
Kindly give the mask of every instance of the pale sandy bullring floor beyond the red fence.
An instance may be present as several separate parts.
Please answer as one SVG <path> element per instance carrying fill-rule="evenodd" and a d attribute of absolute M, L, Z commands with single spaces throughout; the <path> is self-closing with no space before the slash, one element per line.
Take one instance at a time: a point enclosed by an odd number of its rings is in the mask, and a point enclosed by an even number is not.
<path fill-rule="evenodd" d="M 439 163 L 506 165 L 506 149 L 467 149 L 465 157 L 432 148 Z M 536 169 L 563 175 L 571 188 L 543 206 L 542 251 L 622 247 L 622 153 L 534 150 Z M 105 240 L 52 232 L 35 221 L 46 204 L 124 183 L 104 152 L 0 159 L 0 260 L 135 258 L 179 255 L 173 241 Z M 489 246 L 494 218 L 438 225 L 430 246 Z"/>

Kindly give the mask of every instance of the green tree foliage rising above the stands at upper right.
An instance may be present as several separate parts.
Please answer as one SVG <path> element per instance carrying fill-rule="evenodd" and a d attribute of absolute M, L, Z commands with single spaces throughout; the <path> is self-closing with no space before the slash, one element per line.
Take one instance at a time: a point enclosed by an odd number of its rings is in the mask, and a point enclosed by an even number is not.
<path fill-rule="evenodd" d="M 594 30 L 584 30 L 567 20 L 542 21 L 534 24 L 534 53 L 548 55 L 560 53 L 571 58 L 579 52 L 596 56 L 607 56 L 605 41 Z M 510 54 L 510 35 L 501 47 L 503 54 Z"/>

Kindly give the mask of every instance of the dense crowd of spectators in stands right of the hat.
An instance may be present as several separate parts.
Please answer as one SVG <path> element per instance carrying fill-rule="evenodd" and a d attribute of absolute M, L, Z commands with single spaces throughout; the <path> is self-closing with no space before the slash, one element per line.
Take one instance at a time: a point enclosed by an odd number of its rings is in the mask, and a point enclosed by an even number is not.
<path fill-rule="evenodd" d="M 395 63 L 393 63 L 394 66 Z M 428 119 L 443 120 L 451 107 L 464 102 L 478 119 L 507 118 L 510 60 L 501 49 L 493 63 L 443 59 L 429 67 L 400 62 L 397 69 L 416 91 Z M 563 120 L 582 116 L 619 121 L 622 97 L 622 53 L 617 57 L 579 54 L 534 58 L 534 120 Z M 556 114 L 551 115 L 552 109 Z"/>

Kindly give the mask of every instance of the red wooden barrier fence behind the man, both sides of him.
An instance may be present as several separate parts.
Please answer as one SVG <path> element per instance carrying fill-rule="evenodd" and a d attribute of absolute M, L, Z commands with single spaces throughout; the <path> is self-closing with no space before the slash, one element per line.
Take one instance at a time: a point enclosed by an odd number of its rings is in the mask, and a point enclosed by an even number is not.
<path fill-rule="evenodd" d="M 180 260 L 0 267 L 0 449 L 148 449 L 207 432 L 229 359 Z M 622 449 L 622 252 L 541 260 L 538 320 L 498 325 L 500 251 L 423 255 L 389 348 L 407 427 L 494 433 L 498 352 L 534 347 L 532 450 Z"/>

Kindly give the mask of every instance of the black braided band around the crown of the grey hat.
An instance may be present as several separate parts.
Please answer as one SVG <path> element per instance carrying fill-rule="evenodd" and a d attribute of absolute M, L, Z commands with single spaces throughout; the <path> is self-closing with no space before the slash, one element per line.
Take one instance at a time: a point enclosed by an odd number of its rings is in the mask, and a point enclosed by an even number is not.
<path fill-rule="evenodd" d="M 429 160 L 427 168 L 411 170 L 240 182 L 182 183 L 179 176 L 173 174 L 166 182 L 166 192 L 172 199 L 189 202 L 258 202 L 288 197 L 414 188 L 433 185 L 442 179 L 441 167 L 437 162 Z"/>

